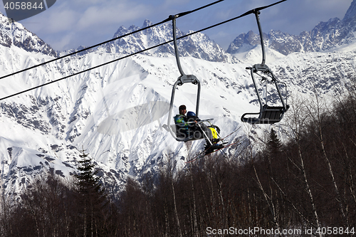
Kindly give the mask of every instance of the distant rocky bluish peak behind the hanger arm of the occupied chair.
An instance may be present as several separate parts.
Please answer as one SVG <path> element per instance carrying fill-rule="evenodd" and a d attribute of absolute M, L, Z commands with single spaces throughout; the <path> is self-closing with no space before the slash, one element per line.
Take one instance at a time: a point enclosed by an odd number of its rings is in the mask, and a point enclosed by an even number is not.
<path fill-rule="evenodd" d="M 147 26 L 152 26 L 152 22 L 145 20 L 141 28 L 146 28 Z M 112 38 L 117 38 L 119 36 L 124 36 L 127 33 L 132 33 L 133 31 L 138 31 L 141 29 L 138 26 L 130 26 L 125 28 L 120 26 L 117 29 L 116 33 Z M 189 31 L 188 33 L 192 33 Z M 184 36 L 185 33 L 177 28 L 177 38 Z M 110 43 L 105 43 L 102 46 L 99 46 L 96 49 L 90 49 L 89 52 L 100 51 L 105 53 L 122 53 L 122 54 L 131 54 L 138 51 L 145 50 L 146 48 L 151 48 L 152 46 L 157 46 L 161 43 L 171 41 L 172 36 L 172 23 L 163 23 L 159 26 L 152 28 L 147 28 L 144 31 L 134 33 L 130 36 L 125 36 L 119 38 Z M 229 62 L 229 63 L 238 63 L 234 56 L 226 53 L 217 43 L 212 41 L 208 36 L 203 33 L 196 33 L 192 36 L 179 39 L 177 41 L 179 48 L 179 55 L 182 57 L 193 57 L 208 60 L 211 62 Z M 84 47 L 85 48 L 85 47 Z M 76 51 L 83 49 L 83 46 L 80 46 Z M 61 55 L 66 53 L 72 53 L 75 50 L 66 51 Z M 157 57 L 167 57 L 174 55 L 174 46 L 173 43 L 164 44 L 157 48 L 153 48 L 150 51 L 145 51 L 145 55 L 148 56 L 157 56 Z"/>

